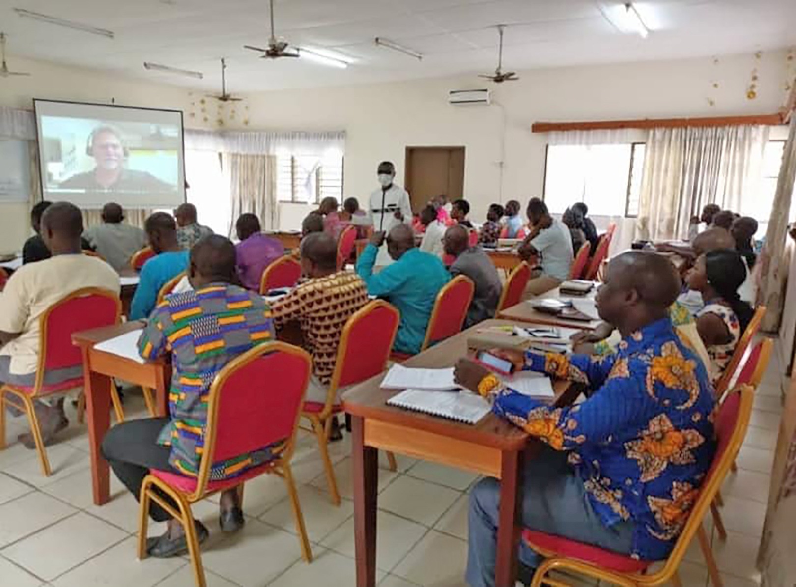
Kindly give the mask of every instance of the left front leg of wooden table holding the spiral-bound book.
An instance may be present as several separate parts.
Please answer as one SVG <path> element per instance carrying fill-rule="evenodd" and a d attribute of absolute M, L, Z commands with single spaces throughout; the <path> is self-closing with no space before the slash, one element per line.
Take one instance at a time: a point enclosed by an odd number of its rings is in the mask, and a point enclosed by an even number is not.
<path fill-rule="evenodd" d="M 365 445 L 365 419 L 353 417 L 353 520 L 357 587 L 376 585 L 378 451 Z"/>

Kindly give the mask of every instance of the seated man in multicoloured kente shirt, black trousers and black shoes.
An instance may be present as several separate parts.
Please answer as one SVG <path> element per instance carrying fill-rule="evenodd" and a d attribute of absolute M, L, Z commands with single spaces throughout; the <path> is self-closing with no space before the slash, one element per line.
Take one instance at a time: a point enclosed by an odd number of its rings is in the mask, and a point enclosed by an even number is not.
<path fill-rule="evenodd" d="M 142 358 L 172 355 L 170 417 L 124 422 L 108 430 L 102 443 L 103 456 L 136 500 L 150 468 L 197 476 L 213 378 L 236 356 L 274 339 L 271 313 L 263 297 L 232 285 L 235 247 L 228 239 L 212 235 L 197 243 L 191 250 L 189 278 L 194 290 L 167 296 L 139 338 Z M 281 447 L 279 442 L 213 463 L 210 477 L 238 476 L 271 461 Z M 148 540 L 147 552 L 154 557 L 185 554 L 181 524 L 154 502 L 149 514 L 156 522 L 168 522 L 168 530 Z M 244 525 L 236 488 L 221 494 L 220 525 L 224 532 Z M 199 541 L 204 542 L 208 530 L 199 521 L 196 526 Z"/>

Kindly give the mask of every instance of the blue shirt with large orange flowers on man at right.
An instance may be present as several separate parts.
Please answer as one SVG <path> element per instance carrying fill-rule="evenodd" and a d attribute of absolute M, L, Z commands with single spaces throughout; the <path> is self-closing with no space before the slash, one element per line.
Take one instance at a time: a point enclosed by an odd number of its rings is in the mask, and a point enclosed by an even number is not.
<path fill-rule="evenodd" d="M 528 352 L 525 369 L 595 391 L 579 405 L 553 408 L 498 383 L 485 390 L 495 413 L 570 452 L 603 523 L 634 524 L 634 558 L 665 559 L 716 452 L 704 365 L 665 318 L 623 339 L 614 355 Z"/>

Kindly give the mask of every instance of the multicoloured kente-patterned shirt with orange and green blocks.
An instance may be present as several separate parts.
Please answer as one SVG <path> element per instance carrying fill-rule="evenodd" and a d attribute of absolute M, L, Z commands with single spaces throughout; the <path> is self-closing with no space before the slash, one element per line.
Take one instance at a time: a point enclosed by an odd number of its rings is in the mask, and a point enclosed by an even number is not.
<path fill-rule="evenodd" d="M 271 310 L 256 293 L 227 283 L 172 293 L 154 309 L 139 338 L 139 353 L 153 360 L 172 353 L 171 421 L 158 443 L 171 447 L 169 462 L 196 476 L 205 446 L 210 386 L 224 365 L 250 348 L 273 340 Z M 253 453 L 213 463 L 211 480 L 240 475 L 273 460 L 284 440 Z"/>

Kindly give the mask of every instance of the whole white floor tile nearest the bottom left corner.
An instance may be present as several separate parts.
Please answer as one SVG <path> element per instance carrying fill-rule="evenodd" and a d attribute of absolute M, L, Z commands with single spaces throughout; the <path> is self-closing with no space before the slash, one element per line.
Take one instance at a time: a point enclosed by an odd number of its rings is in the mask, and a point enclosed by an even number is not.
<path fill-rule="evenodd" d="M 8 546 L 2 554 L 52 581 L 124 538 L 127 534 L 119 528 L 80 512 Z"/>

